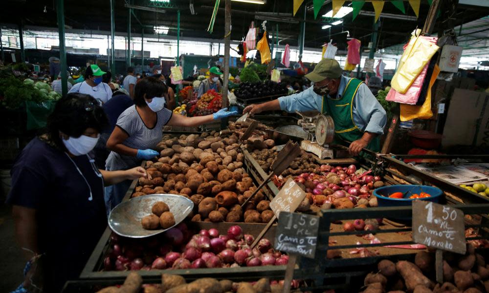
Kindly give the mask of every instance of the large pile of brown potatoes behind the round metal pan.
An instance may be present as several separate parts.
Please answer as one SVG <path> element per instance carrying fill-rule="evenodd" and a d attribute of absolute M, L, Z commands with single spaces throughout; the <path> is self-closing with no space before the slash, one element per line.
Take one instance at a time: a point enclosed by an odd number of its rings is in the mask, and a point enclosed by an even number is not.
<path fill-rule="evenodd" d="M 160 158 L 146 163 L 152 179 L 140 178 L 133 197 L 155 193 L 187 197 L 194 203 L 192 221 L 268 223 L 273 211 L 262 191 L 241 208 L 256 187 L 244 171 L 236 135 L 226 136 L 217 132 L 165 136 L 157 146 Z"/>

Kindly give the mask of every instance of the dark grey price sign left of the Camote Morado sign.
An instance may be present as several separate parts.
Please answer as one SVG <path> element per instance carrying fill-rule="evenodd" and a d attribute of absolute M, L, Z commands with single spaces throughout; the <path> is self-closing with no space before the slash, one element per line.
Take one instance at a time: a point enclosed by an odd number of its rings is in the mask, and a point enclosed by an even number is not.
<path fill-rule="evenodd" d="M 282 211 L 275 233 L 274 248 L 314 258 L 318 228 L 318 216 Z"/>

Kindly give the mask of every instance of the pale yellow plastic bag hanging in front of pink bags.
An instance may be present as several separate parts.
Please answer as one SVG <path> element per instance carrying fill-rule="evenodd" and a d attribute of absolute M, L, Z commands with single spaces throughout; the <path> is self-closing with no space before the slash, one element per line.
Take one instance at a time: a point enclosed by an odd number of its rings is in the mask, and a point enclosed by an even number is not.
<path fill-rule="evenodd" d="M 399 67 L 391 81 L 391 86 L 404 94 L 431 57 L 440 49 L 436 45 L 438 38 L 418 36 L 413 37 L 401 56 Z M 407 62 L 409 60 L 409 62 Z"/>

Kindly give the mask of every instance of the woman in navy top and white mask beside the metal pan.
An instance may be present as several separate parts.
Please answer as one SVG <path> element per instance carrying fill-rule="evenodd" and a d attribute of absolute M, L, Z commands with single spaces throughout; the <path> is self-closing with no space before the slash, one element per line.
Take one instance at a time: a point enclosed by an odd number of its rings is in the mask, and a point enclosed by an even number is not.
<path fill-rule="evenodd" d="M 12 167 L 15 233 L 28 261 L 16 292 L 60 292 L 77 279 L 107 227 L 104 186 L 147 177 L 144 168 L 98 169 L 90 156 L 107 124 L 93 97 L 69 93 Z M 19 272 L 20 273 L 20 272 Z"/>

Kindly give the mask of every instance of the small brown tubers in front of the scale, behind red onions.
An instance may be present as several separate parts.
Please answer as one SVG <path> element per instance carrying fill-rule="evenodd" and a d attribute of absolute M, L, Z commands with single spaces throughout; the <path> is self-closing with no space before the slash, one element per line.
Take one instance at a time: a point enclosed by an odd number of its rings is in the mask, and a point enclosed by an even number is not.
<path fill-rule="evenodd" d="M 268 172 L 273 161 L 275 161 L 277 158 L 277 153 L 278 152 L 276 149 L 255 149 L 251 156 L 258 162 L 258 164 L 260 164 L 260 167 L 262 167 L 265 172 Z M 290 163 L 289 168 L 285 169 L 282 176 L 296 176 L 302 173 L 313 172 L 320 174 L 318 167 L 319 165 L 315 164 L 315 160 L 312 155 L 302 150 L 301 154 L 297 156 L 292 163 Z"/>

